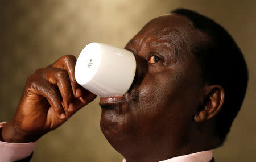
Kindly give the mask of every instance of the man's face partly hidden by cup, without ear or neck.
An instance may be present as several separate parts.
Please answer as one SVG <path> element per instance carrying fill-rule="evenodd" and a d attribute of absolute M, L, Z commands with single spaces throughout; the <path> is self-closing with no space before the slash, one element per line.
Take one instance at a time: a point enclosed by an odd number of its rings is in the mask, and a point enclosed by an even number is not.
<path fill-rule="evenodd" d="M 187 18 L 170 14 L 151 20 L 127 43 L 125 49 L 146 63 L 137 69 L 143 77 L 123 99 L 100 101 L 101 130 L 122 155 L 167 149 L 191 134 L 204 94 L 191 52 L 198 39 Z"/>

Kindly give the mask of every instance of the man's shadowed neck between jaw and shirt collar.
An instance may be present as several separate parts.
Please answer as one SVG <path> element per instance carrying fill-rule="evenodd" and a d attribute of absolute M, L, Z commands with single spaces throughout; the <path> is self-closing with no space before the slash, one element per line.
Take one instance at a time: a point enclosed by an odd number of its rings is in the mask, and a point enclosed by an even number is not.
<path fill-rule="evenodd" d="M 220 140 L 213 136 L 214 130 L 209 127 L 209 124 L 200 124 L 200 126 L 196 127 L 200 128 L 191 129 L 193 130 L 192 132 L 187 132 L 183 136 L 177 136 L 176 138 L 171 139 L 168 136 L 157 142 L 148 142 L 150 144 L 144 145 L 145 147 L 131 148 L 132 151 L 130 153 L 122 153 L 122 155 L 124 155 L 127 162 L 155 162 L 214 149 L 221 145 Z M 201 131 L 201 128 L 204 131 Z"/>

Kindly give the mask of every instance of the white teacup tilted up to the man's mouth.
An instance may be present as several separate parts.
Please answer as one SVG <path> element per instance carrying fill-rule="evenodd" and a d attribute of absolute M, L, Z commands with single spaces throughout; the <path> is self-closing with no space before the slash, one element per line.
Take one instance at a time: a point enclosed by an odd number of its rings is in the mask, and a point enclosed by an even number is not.
<path fill-rule="evenodd" d="M 100 97 L 115 97 L 126 94 L 135 72 L 132 52 L 103 43 L 90 43 L 77 59 L 75 78 L 78 84 Z"/>

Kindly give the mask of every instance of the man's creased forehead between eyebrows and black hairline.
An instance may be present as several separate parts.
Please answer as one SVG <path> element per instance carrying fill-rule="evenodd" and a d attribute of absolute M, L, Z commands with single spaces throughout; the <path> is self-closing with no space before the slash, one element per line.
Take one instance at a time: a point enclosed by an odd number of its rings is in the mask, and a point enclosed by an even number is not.
<path fill-rule="evenodd" d="M 195 42 L 199 40 L 197 32 L 191 20 L 185 16 L 167 14 L 148 22 L 127 45 L 139 49 L 145 45 L 162 43 L 174 49 L 174 53 L 192 51 Z"/>

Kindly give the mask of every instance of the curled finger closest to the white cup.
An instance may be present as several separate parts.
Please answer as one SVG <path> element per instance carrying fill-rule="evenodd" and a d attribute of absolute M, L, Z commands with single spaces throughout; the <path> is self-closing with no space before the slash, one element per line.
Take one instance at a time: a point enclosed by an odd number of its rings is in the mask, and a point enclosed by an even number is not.
<path fill-rule="evenodd" d="M 81 97 L 82 87 L 79 84 L 77 84 L 75 80 L 75 65 L 76 65 L 76 57 L 73 55 L 65 55 L 52 64 L 53 67 L 63 68 L 67 70 L 70 81 L 71 81 L 73 94 L 75 95 L 75 97 Z"/>

